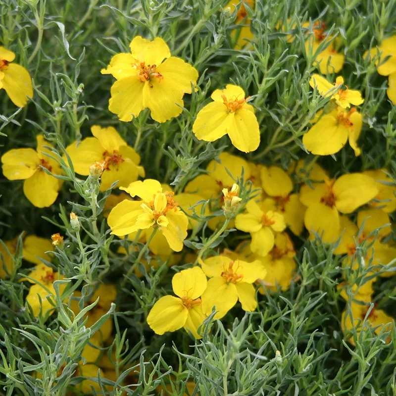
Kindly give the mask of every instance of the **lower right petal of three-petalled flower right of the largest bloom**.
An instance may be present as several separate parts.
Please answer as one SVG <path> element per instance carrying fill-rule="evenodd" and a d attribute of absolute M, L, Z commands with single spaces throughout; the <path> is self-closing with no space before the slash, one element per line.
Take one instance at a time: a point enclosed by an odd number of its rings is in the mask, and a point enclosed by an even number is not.
<path fill-rule="evenodd" d="M 254 151 L 260 144 L 257 118 L 252 111 L 245 108 L 237 110 L 234 117 L 231 117 L 227 133 L 233 146 L 240 151 Z"/>

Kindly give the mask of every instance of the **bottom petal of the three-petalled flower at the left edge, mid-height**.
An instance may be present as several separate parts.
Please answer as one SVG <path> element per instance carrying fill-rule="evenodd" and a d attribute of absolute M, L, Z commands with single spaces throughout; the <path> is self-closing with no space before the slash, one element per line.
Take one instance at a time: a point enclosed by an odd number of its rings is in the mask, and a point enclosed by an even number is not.
<path fill-rule="evenodd" d="M 59 182 L 48 175 L 43 169 L 38 169 L 23 183 L 23 193 L 36 207 L 51 206 L 58 196 Z"/>

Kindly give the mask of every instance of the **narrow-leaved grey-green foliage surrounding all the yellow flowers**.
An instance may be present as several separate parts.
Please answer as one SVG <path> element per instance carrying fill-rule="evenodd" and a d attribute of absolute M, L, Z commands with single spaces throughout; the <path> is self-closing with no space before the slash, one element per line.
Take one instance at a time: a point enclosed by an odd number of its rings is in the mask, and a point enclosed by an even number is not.
<path fill-rule="evenodd" d="M 260 123 L 260 147 L 244 157 L 285 169 L 300 158 L 310 161 L 313 156 L 304 151 L 301 136 L 328 99 L 309 87 L 316 67 L 313 54 L 306 53 L 306 28 L 301 25 L 320 20 L 346 55 L 341 74 L 347 85 L 359 90 L 365 101 L 360 107 L 362 155 L 355 157 L 345 147 L 317 162 L 332 176 L 387 168 L 396 180 L 396 107 L 386 96 L 387 78 L 363 58 L 367 49 L 395 34 L 396 1 L 257 1 L 252 9 L 247 7 L 255 44 L 243 51 L 234 49 L 230 32 L 235 13 L 223 10 L 226 4 L 0 0 L 0 45 L 16 53 L 35 87 L 33 99 L 20 109 L 0 91 L 1 153 L 35 148 L 36 135 L 43 133 L 62 155 L 74 140 L 91 136 L 92 125 L 112 125 L 141 155 L 147 178 L 181 192 L 220 152 L 241 154 L 227 137 L 209 144 L 192 133 L 194 118 L 213 90 L 231 82 L 253 97 Z M 113 54 L 128 52 L 137 35 L 162 37 L 172 55 L 199 72 L 198 91 L 185 96 L 182 115 L 163 124 L 151 120 L 148 110 L 123 123 L 107 109 L 113 79 L 100 70 Z M 309 241 L 307 233 L 294 237 L 299 276 L 287 291 L 259 296 L 253 313 L 234 307 L 202 340 L 184 330 L 157 336 L 146 317 L 158 297 L 172 294 L 173 269 L 165 264 L 143 278 L 131 274 L 124 281 L 137 252 L 130 248 L 129 255 L 117 254 L 127 243 L 109 235 L 100 213 L 110 191 L 99 194 L 100 207 L 93 214 L 95 202 L 85 178 L 65 172 L 59 197 L 44 209 L 25 198 L 21 182 L 0 176 L 0 237 L 9 241 L 20 236 L 15 271 L 0 281 L 0 395 L 78 394 L 74 385 L 82 378 L 74 374 L 90 338 L 80 318 L 67 319 L 60 298 L 59 308 L 45 323 L 26 308 L 28 287 L 17 275 L 32 267 L 21 259 L 23 232 L 64 236 L 64 247 L 54 253 L 52 265 L 71 279 L 68 296 L 76 289 L 89 294 L 86 285 L 92 279 L 117 285 L 115 305 L 96 325 L 108 316 L 114 321 L 114 340 L 103 353 L 113 353 L 116 378 L 99 380 L 102 391 L 97 394 L 152 395 L 161 392 L 159 385 L 171 383 L 169 395 L 181 396 L 188 392 L 186 383 L 194 381 L 189 395 L 396 395 L 395 329 L 390 344 L 385 342 L 389 334 L 377 336 L 369 328 L 356 347 L 343 341 L 341 312 L 346 302 L 337 289 L 342 260 L 332 254 L 332 246 Z M 81 241 L 70 226 L 71 211 L 80 218 Z M 205 243 L 211 233 L 203 221 L 192 242 Z M 241 235 L 231 232 L 210 248 L 234 248 Z M 178 270 L 191 262 L 185 250 L 178 256 Z M 84 271 L 83 262 L 89 263 Z M 358 276 L 366 274 L 363 270 Z M 396 277 L 379 279 L 374 289 L 378 306 L 395 317 Z M 104 387 L 113 381 L 116 386 Z"/>

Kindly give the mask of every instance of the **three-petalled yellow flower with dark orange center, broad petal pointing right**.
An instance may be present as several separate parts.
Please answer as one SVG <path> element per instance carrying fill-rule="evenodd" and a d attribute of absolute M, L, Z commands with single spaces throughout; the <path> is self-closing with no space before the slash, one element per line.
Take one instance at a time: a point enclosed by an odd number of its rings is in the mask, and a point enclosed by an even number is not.
<path fill-rule="evenodd" d="M 324 183 L 303 185 L 300 200 L 307 206 L 304 216 L 306 229 L 321 235 L 322 242 L 333 243 L 340 236 L 341 213 L 352 213 L 378 194 L 376 182 L 361 173 L 349 173 Z"/>

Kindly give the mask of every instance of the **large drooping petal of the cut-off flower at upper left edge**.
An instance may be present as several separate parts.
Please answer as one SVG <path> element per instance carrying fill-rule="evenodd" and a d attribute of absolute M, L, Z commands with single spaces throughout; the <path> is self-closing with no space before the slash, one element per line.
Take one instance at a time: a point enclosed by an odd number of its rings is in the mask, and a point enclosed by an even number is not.
<path fill-rule="evenodd" d="M 32 78 L 29 72 L 15 63 L 10 63 L 3 72 L 3 89 L 16 106 L 23 107 L 28 97 L 33 98 Z"/>

